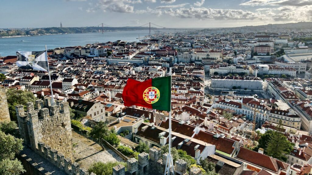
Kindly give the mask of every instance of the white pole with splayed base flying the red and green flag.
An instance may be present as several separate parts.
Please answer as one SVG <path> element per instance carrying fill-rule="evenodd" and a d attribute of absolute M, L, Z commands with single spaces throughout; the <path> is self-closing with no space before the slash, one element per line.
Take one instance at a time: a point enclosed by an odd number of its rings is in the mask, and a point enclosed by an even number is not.
<path fill-rule="evenodd" d="M 174 173 L 173 169 L 173 159 L 171 156 L 171 87 L 172 87 L 172 78 L 171 78 L 171 67 L 169 68 L 169 75 L 170 75 L 170 111 L 169 111 L 169 150 L 168 150 L 168 156 L 166 161 L 166 168 L 165 168 L 165 175 L 171 174 L 170 169 L 172 168 L 172 173 Z"/>

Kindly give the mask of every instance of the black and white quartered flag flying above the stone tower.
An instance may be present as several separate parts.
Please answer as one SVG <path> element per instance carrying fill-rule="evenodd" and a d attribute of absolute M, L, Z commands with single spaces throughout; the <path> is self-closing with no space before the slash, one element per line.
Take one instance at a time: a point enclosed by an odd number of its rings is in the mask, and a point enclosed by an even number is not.
<path fill-rule="evenodd" d="M 16 52 L 17 66 L 22 69 L 42 70 L 48 72 L 48 54 L 40 52 Z"/>

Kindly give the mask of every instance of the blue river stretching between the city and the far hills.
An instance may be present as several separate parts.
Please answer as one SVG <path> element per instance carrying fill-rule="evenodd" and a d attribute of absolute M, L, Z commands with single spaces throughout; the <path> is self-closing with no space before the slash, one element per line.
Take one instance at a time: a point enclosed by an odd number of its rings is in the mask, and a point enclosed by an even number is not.
<path fill-rule="evenodd" d="M 154 34 L 154 31 L 151 31 Z M 163 30 L 162 32 L 169 32 Z M 11 38 L 0 38 L 0 55 L 16 55 L 17 51 L 40 51 L 65 46 L 78 46 L 93 44 L 95 42 L 107 41 L 139 41 L 139 36 L 149 35 L 149 30 L 140 31 L 113 31 L 105 33 L 80 33 L 62 35 L 41 35 L 41 36 L 22 36 Z"/>

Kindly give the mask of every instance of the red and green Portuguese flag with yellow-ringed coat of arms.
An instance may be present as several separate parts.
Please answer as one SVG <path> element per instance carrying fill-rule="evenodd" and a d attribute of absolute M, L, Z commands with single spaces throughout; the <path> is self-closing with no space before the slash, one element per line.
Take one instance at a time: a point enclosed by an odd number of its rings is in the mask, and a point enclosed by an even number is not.
<path fill-rule="evenodd" d="M 171 76 L 149 79 L 144 82 L 128 79 L 122 99 L 124 106 L 142 106 L 170 111 Z"/>

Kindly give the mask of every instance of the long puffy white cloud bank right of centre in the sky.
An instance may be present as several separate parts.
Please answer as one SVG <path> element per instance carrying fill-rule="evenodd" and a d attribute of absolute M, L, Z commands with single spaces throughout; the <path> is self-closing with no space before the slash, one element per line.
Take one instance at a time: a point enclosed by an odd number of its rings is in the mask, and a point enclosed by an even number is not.
<path fill-rule="evenodd" d="M 216 20 L 265 20 L 266 17 L 261 13 L 234 9 L 212 9 L 212 8 L 179 8 L 164 11 L 173 17 L 179 18 L 197 18 L 197 19 L 216 19 Z"/>

